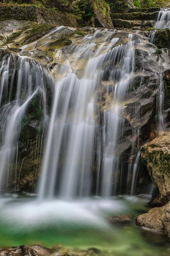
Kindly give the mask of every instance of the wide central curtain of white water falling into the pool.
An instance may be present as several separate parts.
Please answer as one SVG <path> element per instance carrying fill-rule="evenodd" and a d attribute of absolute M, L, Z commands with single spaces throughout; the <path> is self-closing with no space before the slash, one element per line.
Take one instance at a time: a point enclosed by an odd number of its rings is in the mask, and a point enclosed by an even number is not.
<path fill-rule="evenodd" d="M 74 63 L 84 61 L 81 77 L 72 70 L 73 57 L 61 68 L 61 77 L 62 73 L 67 75 L 55 85 L 38 184 L 40 199 L 55 194 L 73 198 L 117 193 L 121 176 L 117 143 L 124 130 L 121 103 L 134 75 L 135 46 L 142 42 L 133 34 L 126 33 L 124 37 L 126 43 L 116 45 L 121 33 L 119 36 L 117 32 L 96 30 L 72 49 Z M 107 105 L 99 100 L 100 90 L 105 91 Z M 99 118 L 101 110 L 103 116 Z"/>

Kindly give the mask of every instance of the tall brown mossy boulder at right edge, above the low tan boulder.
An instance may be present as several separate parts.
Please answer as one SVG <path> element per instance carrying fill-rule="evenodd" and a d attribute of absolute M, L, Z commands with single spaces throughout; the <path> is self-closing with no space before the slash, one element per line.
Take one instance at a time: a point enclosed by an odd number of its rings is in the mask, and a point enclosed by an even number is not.
<path fill-rule="evenodd" d="M 170 132 L 162 132 L 159 137 L 148 142 L 141 150 L 141 159 L 159 189 L 158 203 L 167 203 L 170 200 Z"/>

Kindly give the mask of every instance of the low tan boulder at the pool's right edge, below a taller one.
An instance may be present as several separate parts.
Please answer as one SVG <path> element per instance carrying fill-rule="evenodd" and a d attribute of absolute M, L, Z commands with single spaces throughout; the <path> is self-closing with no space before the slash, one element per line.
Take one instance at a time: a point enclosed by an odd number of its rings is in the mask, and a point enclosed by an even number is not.
<path fill-rule="evenodd" d="M 138 226 L 159 231 L 170 237 L 170 202 L 165 206 L 155 207 L 147 213 L 139 215 L 136 223 Z"/>

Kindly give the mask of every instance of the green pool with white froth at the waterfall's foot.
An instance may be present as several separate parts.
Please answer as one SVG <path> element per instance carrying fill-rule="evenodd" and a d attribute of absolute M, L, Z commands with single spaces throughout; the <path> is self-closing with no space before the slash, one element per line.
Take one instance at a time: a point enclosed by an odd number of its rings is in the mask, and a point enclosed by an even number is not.
<path fill-rule="evenodd" d="M 89 223 L 88 218 L 83 216 L 86 211 L 84 212 L 81 208 L 75 209 L 75 207 L 79 207 L 79 203 L 68 206 L 63 203 L 52 202 L 37 206 L 37 208 L 33 206 L 31 209 L 29 200 L 26 203 L 27 206 L 21 207 L 25 203 L 24 200 L 23 198 L 15 198 L 1 206 L 0 246 L 40 244 L 53 247 L 56 244 L 61 244 L 64 247 L 79 249 L 96 247 L 110 252 L 111 255 L 170 255 L 170 244 L 164 236 L 135 226 L 137 215 L 148 210 L 147 200 L 142 198 L 117 197 L 114 198 L 113 205 L 112 201 L 106 205 L 98 205 L 96 201 L 88 204 L 86 202 L 82 209 L 88 209 L 90 214 L 92 212 L 91 215 L 89 214 Z M 54 208 L 53 204 L 55 205 Z M 60 215 L 57 215 L 56 209 L 61 212 Z M 40 212 L 36 213 L 36 211 Z M 46 219 L 47 212 L 49 218 Z M 74 214 L 77 212 L 78 214 L 74 218 Z M 107 221 L 109 215 L 118 214 L 130 214 L 132 220 L 119 225 L 113 225 Z M 101 222 L 104 220 L 104 223 L 98 223 L 100 218 Z M 84 221 L 84 219 L 86 220 Z"/>

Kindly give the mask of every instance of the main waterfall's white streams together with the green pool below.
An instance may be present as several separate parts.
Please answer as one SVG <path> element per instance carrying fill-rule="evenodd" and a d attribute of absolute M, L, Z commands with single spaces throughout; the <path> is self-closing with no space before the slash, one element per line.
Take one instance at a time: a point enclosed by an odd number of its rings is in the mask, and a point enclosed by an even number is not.
<path fill-rule="evenodd" d="M 43 46 L 61 29 L 43 37 Z M 1 190 L 18 189 L 27 158 L 23 141 L 33 147 L 35 164 L 37 155 L 43 155 L 43 161 L 38 196 L 2 194 L 0 245 L 62 243 L 97 246 L 117 255 L 168 255 L 165 238 L 159 237 L 160 243 L 151 240 L 150 245 L 145 241 L 150 233 L 135 227 L 137 214 L 146 211 L 146 200 L 112 197 L 135 194 L 142 130 L 139 106 L 146 76 L 143 57 L 149 52 L 147 57 L 154 58 L 156 47 L 134 31 L 96 29 L 70 46 L 54 82 L 37 61 L 22 56 L 32 54 L 35 45 L 22 47 L 20 57 L 3 52 L 1 56 Z M 163 77 L 156 78 L 163 129 Z M 131 119 L 126 110 L 132 103 Z M 31 141 L 22 134 L 27 125 L 36 131 Z M 121 151 L 126 130 L 128 162 Z M 132 222 L 112 226 L 108 218 L 117 214 L 133 215 Z"/>

